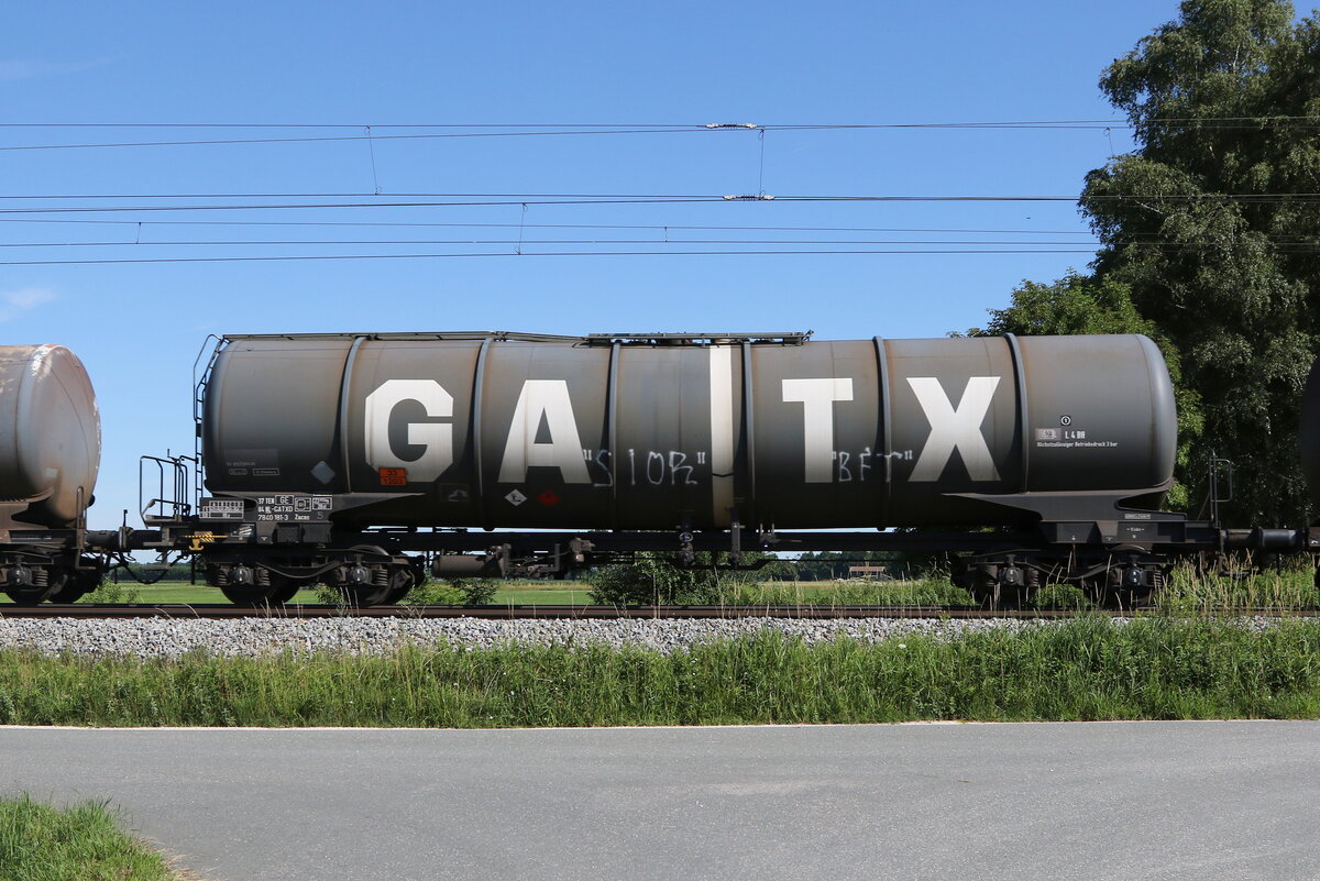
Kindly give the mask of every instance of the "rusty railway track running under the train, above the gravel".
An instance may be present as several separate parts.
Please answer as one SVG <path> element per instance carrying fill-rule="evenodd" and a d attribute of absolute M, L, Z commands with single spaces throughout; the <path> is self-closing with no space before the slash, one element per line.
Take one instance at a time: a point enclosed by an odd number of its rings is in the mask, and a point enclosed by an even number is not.
<path fill-rule="evenodd" d="M 3 605 L 0 617 L 24 619 L 333 619 L 333 617 L 383 617 L 383 619 L 486 619 L 486 620 L 704 620 L 704 619 L 800 619 L 800 620 L 828 620 L 828 619 L 950 619 L 950 620 L 977 620 L 977 619 L 1071 619 L 1082 615 L 1101 613 L 1109 617 L 1133 617 L 1134 615 L 1150 613 L 1152 609 L 1078 612 L 1074 609 L 970 609 L 949 608 L 937 605 L 833 605 L 833 607 L 799 607 L 799 605 L 756 605 L 756 607 L 717 607 L 717 605 L 643 605 L 643 607 L 611 607 L 611 605 L 387 605 L 375 608 L 342 608 L 335 605 L 277 605 L 271 608 L 251 608 L 231 605 L 228 603 L 215 604 L 121 604 L 121 605 L 92 605 L 92 604 L 42 604 L 42 605 Z M 1241 617 L 1292 617 L 1292 616 L 1320 616 L 1320 609 L 1236 609 L 1222 612 Z"/>

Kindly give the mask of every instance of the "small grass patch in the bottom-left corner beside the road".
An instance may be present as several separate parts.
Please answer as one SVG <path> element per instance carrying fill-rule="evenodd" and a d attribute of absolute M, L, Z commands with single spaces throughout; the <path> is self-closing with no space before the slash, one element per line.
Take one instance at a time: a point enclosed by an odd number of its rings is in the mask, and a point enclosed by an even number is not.
<path fill-rule="evenodd" d="M 0 798 L 5 881 L 174 881 L 165 859 L 124 832 L 100 802 L 67 808 Z"/>

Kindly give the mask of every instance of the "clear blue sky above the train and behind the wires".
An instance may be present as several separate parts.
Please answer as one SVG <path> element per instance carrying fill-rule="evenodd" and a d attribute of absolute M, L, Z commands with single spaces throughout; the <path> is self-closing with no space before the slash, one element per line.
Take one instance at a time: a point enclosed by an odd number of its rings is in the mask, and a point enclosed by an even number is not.
<path fill-rule="evenodd" d="M 193 359 L 209 334 L 812 328 L 826 339 L 940 336 L 983 323 L 985 310 L 1003 306 L 1023 278 L 1049 281 L 1086 265 L 1090 237 L 1072 200 L 550 206 L 532 195 L 763 189 L 777 197 L 1072 199 L 1088 170 L 1130 148 L 1126 129 L 771 128 L 762 165 L 755 131 L 397 138 L 457 132 L 391 127 L 1115 119 L 1097 87 L 1101 70 L 1176 13 L 1172 0 L 9 4 L 0 13 L 0 123 L 11 125 L 0 128 L 0 148 L 359 140 L 0 149 L 0 211 L 8 211 L 0 212 L 0 336 L 63 343 L 87 364 L 104 430 L 91 518 L 98 526 L 116 525 L 123 508 L 136 510 L 139 454 L 191 450 Z M 40 123 L 338 128 L 12 125 Z M 366 125 L 370 142 L 360 140 Z M 500 206 L 147 210 L 315 202 L 268 198 L 275 194 L 345 194 L 323 202 L 371 206 L 425 200 L 397 194 L 455 193 L 521 195 Z M 224 194 L 252 198 L 216 198 Z M 211 198 L 166 198 L 186 195 Z M 525 210 L 524 199 L 532 202 Z M 55 207 L 123 210 L 49 212 Z M 193 226 L 173 223 L 180 220 Z M 216 220 L 513 226 L 197 226 Z M 846 231 L 671 228 L 671 240 L 722 243 L 664 244 L 664 227 L 684 226 Z M 519 237 L 524 252 L 593 255 L 512 256 Z M 983 247 L 1082 253 L 597 253 L 781 249 L 789 245 L 727 240 L 807 237 L 869 244 L 801 248 L 968 251 L 979 245 L 962 243 L 1048 241 Z M 309 239 L 418 244 L 156 244 Z M 537 244 L 546 239 L 638 241 Z M 874 244 L 907 241 L 952 244 Z M 15 265 L 403 253 L 500 256 Z"/>

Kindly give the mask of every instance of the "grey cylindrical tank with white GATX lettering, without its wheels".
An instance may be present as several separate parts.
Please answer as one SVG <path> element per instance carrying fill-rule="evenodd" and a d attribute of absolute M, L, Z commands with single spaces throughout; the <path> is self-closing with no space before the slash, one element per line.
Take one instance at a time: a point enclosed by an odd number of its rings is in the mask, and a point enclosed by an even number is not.
<path fill-rule="evenodd" d="M 1113 520 L 1177 444 L 1144 336 L 230 338 L 206 485 L 396 526 L 710 530 Z"/>

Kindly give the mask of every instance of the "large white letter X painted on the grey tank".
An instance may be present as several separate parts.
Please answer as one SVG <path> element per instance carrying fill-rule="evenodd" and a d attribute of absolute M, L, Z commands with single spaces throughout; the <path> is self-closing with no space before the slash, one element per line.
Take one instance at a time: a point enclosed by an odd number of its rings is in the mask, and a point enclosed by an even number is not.
<path fill-rule="evenodd" d="M 981 434 L 981 423 L 990 411 L 990 401 L 999 385 L 998 376 L 973 376 L 962 390 L 957 409 L 949 402 L 940 380 L 933 376 L 909 376 L 908 385 L 916 394 L 917 404 L 931 422 L 931 435 L 921 447 L 916 467 L 908 480 L 939 480 L 949 458 L 957 448 L 968 476 L 973 480 L 998 480 L 999 471 L 994 467 L 990 447 Z"/>

